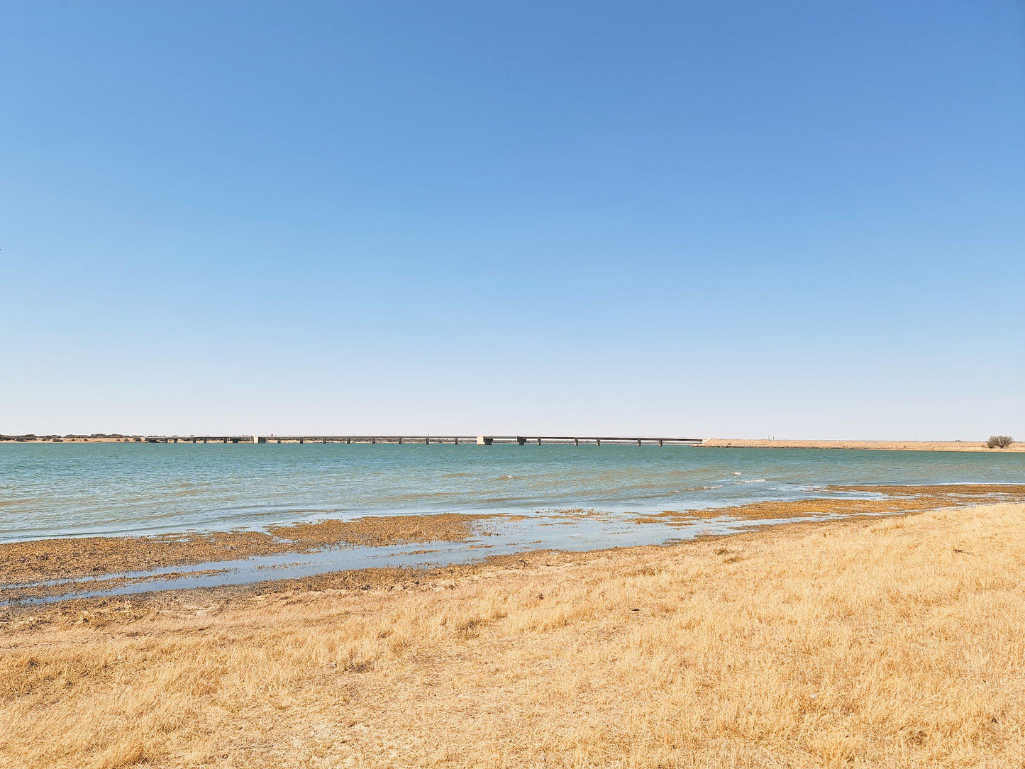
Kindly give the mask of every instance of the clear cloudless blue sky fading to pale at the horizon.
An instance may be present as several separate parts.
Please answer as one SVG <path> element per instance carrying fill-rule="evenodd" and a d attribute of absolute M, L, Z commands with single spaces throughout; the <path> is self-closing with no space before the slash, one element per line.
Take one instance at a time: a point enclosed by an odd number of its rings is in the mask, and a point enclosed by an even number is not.
<path fill-rule="evenodd" d="M 0 0 L 0 433 L 1025 439 L 1025 4 Z"/>

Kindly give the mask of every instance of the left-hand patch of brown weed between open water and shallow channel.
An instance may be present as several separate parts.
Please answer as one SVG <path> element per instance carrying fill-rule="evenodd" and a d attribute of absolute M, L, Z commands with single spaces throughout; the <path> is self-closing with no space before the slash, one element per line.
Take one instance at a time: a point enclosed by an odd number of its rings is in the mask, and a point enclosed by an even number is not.
<path fill-rule="evenodd" d="M 149 571 L 251 556 L 308 553 L 337 545 L 380 547 L 462 541 L 482 531 L 481 523 L 502 516 L 446 513 L 424 516 L 368 516 L 273 526 L 268 531 L 224 531 L 122 537 L 61 537 L 0 543 L 0 585 L 99 574 Z"/>

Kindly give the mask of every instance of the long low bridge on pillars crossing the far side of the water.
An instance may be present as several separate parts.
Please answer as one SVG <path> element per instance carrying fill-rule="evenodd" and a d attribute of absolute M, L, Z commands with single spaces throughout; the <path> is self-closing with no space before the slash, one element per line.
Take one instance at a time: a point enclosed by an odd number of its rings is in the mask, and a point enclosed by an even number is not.
<path fill-rule="evenodd" d="M 137 440 L 137 439 L 136 439 Z M 477 444 L 493 446 L 496 444 L 528 443 L 540 446 L 542 443 L 563 445 L 596 445 L 618 444 L 636 446 L 697 446 L 701 438 L 666 438 L 666 437 L 630 437 L 630 436 L 526 436 L 526 435 L 202 435 L 202 436 L 146 436 L 141 439 L 147 443 L 395 443 L 395 444 L 432 444 L 451 443 L 455 445 Z"/>

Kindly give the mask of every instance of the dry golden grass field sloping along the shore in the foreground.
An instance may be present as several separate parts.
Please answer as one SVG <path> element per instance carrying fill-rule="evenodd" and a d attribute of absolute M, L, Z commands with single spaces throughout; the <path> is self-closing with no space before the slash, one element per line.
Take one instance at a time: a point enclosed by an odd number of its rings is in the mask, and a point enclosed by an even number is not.
<path fill-rule="evenodd" d="M 15 612 L 0 765 L 1021 767 L 1023 522 L 1001 503 Z"/>

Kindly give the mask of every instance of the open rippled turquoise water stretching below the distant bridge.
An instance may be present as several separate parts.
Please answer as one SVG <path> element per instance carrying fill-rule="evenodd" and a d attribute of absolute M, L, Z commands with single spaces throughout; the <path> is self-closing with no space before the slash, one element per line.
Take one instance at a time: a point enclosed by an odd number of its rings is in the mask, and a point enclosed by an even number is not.
<path fill-rule="evenodd" d="M 657 446 L 0 444 L 0 541 L 362 515 L 614 513 L 838 483 L 1025 482 L 1025 454 Z"/>

